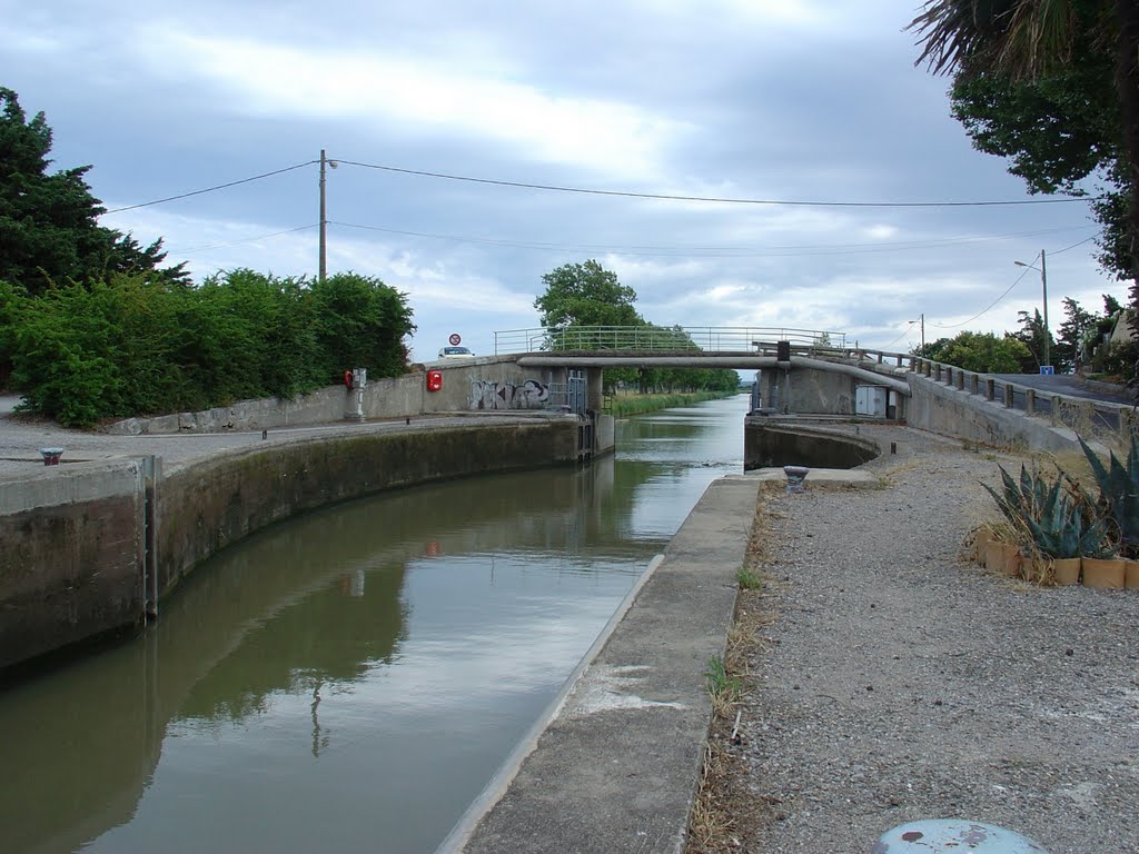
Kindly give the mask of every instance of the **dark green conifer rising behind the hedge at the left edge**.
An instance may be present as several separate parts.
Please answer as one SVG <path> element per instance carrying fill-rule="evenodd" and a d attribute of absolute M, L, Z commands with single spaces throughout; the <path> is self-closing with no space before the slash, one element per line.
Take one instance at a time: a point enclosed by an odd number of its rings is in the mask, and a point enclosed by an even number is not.
<path fill-rule="evenodd" d="M 27 120 L 16 92 L 0 87 L 0 280 L 33 295 L 113 273 L 189 282 L 183 264 L 158 266 L 165 260 L 161 239 L 142 247 L 99 225 L 105 208 L 84 180 L 91 167 L 48 174 L 50 150 L 43 113 Z"/>

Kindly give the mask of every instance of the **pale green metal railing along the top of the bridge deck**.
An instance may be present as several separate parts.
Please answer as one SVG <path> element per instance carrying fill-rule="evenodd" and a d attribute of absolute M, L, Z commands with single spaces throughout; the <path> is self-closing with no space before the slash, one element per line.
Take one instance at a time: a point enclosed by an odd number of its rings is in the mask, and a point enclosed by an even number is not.
<path fill-rule="evenodd" d="M 846 334 L 779 327 L 570 326 L 494 332 L 494 354 L 564 350 L 700 350 L 754 353 L 757 340 L 789 340 L 800 347 L 844 347 Z"/>

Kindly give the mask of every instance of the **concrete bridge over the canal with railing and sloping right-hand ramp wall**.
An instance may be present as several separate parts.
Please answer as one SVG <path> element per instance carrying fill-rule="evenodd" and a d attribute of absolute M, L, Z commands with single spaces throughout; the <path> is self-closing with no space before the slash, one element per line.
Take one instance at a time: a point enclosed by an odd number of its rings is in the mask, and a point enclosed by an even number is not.
<path fill-rule="evenodd" d="M 786 327 L 566 327 L 494 334 L 497 359 L 527 370 L 577 371 L 601 409 L 605 368 L 756 370 L 753 414 L 846 416 L 859 388 L 871 417 L 997 447 L 1080 452 L 1076 434 L 1123 446 L 1133 403 L 1076 394 L 1071 377 L 995 377 L 909 353 L 860 347 L 845 332 Z M 1030 383 L 1031 380 L 1031 383 Z"/>

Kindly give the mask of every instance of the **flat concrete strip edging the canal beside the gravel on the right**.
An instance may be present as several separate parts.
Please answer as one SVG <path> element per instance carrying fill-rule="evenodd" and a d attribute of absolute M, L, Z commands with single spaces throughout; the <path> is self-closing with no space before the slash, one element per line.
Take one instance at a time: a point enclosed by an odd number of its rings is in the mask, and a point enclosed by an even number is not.
<path fill-rule="evenodd" d="M 588 667 L 441 851 L 677 852 L 712 715 L 759 478 L 712 483 Z M 548 725 L 546 725 L 548 723 Z"/>

